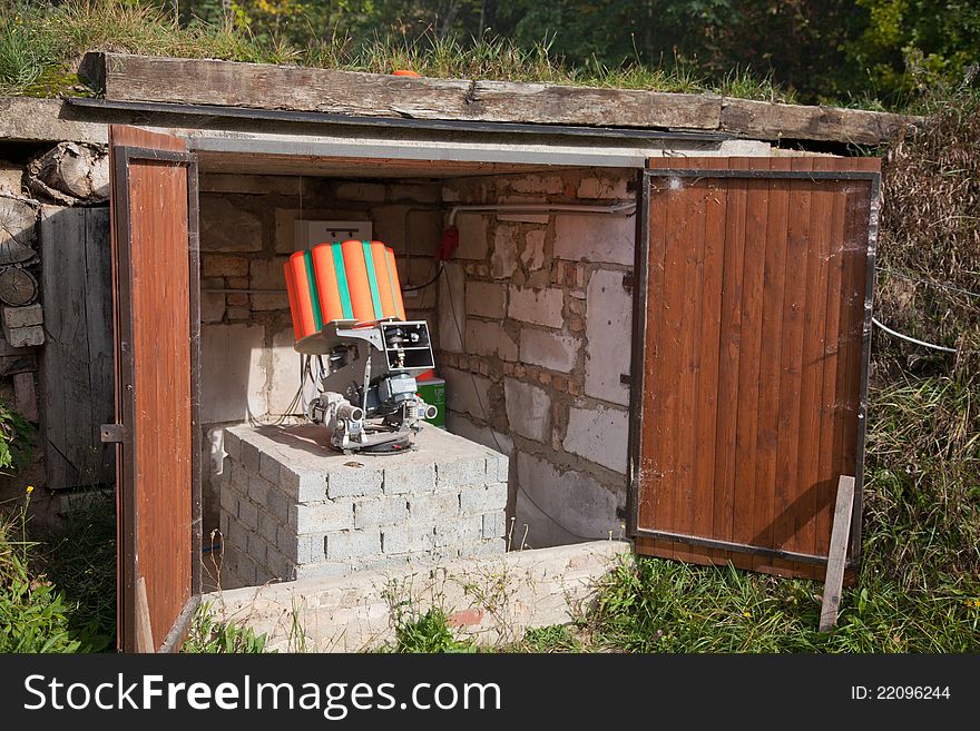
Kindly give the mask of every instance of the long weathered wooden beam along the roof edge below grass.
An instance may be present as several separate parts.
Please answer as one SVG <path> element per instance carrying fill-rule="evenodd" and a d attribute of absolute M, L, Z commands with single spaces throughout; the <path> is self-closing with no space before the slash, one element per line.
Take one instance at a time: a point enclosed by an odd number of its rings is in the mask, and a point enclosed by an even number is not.
<path fill-rule="evenodd" d="M 727 131 L 752 139 L 873 145 L 913 118 L 549 83 L 396 77 L 297 66 L 89 53 L 79 73 L 114 101 L 212 105 L 367 117 Z M 186 83 L 175 83 L 186 79 Z"/>

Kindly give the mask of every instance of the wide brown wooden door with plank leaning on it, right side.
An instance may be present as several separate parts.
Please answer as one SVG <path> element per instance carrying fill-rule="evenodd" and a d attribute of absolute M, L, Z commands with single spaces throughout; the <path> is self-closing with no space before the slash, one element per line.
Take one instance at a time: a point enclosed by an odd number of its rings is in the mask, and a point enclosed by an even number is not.
<path fill-rule="evenodd" d="M 854 475 L 859 557 L 879 170 L 650 160 L 630 424 L 638 553 L 820 577 L 837 478 Z"/>

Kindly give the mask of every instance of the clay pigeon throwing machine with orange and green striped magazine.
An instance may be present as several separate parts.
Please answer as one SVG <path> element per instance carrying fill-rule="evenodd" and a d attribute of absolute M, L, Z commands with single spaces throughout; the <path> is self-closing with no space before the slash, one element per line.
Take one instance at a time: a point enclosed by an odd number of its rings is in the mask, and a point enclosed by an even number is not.
<path fill-rule="evenodd" d="M 296 251 L 285 265 L 294 348 L 303 354 L 306 418 L 345 452 L 411 448 L 435 407 L 415 376 L 434 366 L 429 326 L 406 320 L 394 251 L 381 241 L 336 241 Z"/>

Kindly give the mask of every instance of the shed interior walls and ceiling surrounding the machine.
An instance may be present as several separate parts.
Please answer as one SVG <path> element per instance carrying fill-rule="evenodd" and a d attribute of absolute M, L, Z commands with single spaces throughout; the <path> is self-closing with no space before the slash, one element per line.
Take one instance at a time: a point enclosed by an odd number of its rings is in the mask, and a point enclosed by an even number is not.
<path fill-rule="evenodd" d="M 354 223 L 394 248 L 406 315 L 429 323 L 448 429 L 510 457 L 509 547 L 625 535 L 636 219 L 596 209 L 635 202 L 635 168 L 197 155 L 206 544 L 223 429 L 301 413 L 286 257 Z M 467 209 L 497 205 L 528 209 Z"/>

